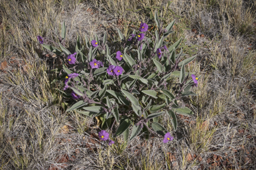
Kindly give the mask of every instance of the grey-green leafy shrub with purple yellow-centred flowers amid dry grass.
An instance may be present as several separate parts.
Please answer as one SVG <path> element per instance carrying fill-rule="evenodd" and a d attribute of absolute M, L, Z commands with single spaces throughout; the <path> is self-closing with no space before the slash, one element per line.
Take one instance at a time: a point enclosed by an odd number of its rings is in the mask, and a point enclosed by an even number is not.
<path fill-rule="evenodd" d="M 159 116 L 170 116 L 176 130 L 175 113 L 193 114 L 185 107 L 183 98 L 196 95 L 191 92 L 191 87 L 197 86 L 198 78 L 185 72 L 185 65 L 195 56 L 181 60 L 185 56 L 183 50 L 176 54 L 181 39 L 171 46 L 164 41 L 173 33 L 174 21 L 163 29 L 155 13 L 155 23 L 154 35 L 148 31 L 146 23 L 141 23 L 139 31 L 133 31 L 129 37 L 124 37 L 117 29 L 121 39 L 118 49 L 109 48 L 105 33 L 102 41 L 97 35 L 90 41 L 85 37 L 85 46 L 80 44 L 78 37 L 75 52 L 71 54 L 64 45 L 65 23 L 59 48 L 42 44 L 67 58 L 67 64 L 63 64 L 63 71 L 59 74 L 61 80 L 65 79 L 61 92 L 76 101 L 67 112 L 76 110 L 85 116 L 99 116 L 103 121 L 101 128 L 107 124 L 111 127 L 109 131 L 115 132 L 114 136 L 123 134 L 125 141 L 141 131 L 162 135 L 164 143 L 173 139 L 159 124 Z M 114 125 L 118 128 L 112 131 Z M 99 137 L 105 141 L 109 133 L 100 131 Z M 113 143 L 109 139 L 109 145 Z"/>

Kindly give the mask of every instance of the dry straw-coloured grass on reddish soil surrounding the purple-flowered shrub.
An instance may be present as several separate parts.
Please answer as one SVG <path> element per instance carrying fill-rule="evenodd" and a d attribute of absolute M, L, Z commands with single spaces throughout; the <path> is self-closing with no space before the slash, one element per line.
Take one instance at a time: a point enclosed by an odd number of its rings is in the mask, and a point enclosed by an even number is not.
<path fill-rule="evenodd" d="M 0 0 L 0 61 L 9 65 L 0 73 L 0 169 L 255 169 L 255 2 L 166 4 Z M 176 19 L 169 41 L 183 37 L 185 52 L 197 55 L 187 66 L 201 75 L 198 96 L 186 99 L 195 116 L 177 116 L 177 131 L 167 116 L 161 118 L 175 137 L 165 145 L 140 136 L 129 143 L 117 137 L 109 147 L 91 128 L 95 120 L 63 110 L 65 99 L 49 72 L 61 58 L 47 58 L 37 35 L 51 39 L 65 20 L 66 46 L 73 52 L 77 35 L 83 43 L 85 35 L 102 37 L 104 31 L 116 39 L 115 27 L 127 35 L 139 21 L 150 23 L 156 7 L 164 23 Z"/>

